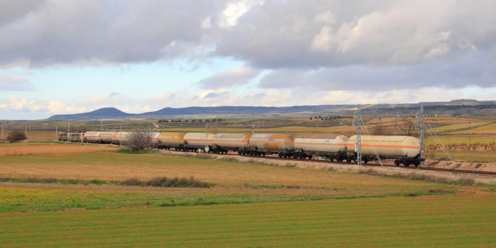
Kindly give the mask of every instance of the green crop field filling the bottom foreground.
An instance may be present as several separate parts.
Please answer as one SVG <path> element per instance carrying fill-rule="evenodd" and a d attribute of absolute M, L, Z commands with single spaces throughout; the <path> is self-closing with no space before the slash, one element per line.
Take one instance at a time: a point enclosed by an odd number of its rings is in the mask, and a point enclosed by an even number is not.
<path fill-rule="evenodd" d="M 496 195 L 0 213 L 3 247 L 495 247 Z"/>

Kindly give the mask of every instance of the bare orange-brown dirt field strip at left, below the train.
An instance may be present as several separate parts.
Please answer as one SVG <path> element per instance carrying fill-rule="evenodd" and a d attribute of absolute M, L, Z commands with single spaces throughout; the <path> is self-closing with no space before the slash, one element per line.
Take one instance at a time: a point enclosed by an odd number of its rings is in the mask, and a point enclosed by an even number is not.
<path fill-rule="evenodd" d="M 23 154 L 54 154 L 54 153 L 79 153 L 116 150 L 115 146 L 100 144 L 12 144 L 0 145 L 0 156 Z"/>

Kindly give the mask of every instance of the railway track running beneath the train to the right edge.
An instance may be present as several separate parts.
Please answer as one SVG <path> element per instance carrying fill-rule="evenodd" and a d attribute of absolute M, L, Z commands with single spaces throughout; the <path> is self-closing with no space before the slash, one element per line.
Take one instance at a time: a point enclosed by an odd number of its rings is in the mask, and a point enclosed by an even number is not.
<path fill-rule="evenodd" d="M 159 149 L 158 149 L 159 150 Z M 160 151 L 160 150 L 159 150 Z M 172 150 L 176 152 L 186 152 L 186 153 L 197 153 L 197 152 L 190 152 L 190 151 L 177 151 L 177 150 Z M 297 158 L 280 158 L 280 157 L 265 157 L 265 156 L 252 156 L 252 155 L 239 155 L 239 154 L 232 154 L 232 153 L 210 153 L 210 154 L 215 154 L 215 155 L 222 155 L 222 156 L 240 156 L 240 157 L 249 157 L 249 158 L 265 158 L 265 159 L 274 159 L 274 160 L 286 160 L 286 161 L 309 161 L 309 162 L 316 162 L 316 163 L 327 163 L 327 164 L 345 164 L 345 165 L 356 165 L 356 163 L 348 163 L 348 162 L 337 162 L 337 161 L 330 161 L 330 160 L 305 160 L 305 159 L 297 159 Z M 479 174 L 479 175 L 492 175 L 496 176 L 496 172 L 489 172 L 489 171 L 471 171 L 471 170 L 460 170 L 460 169 L 443 169 L 443 168 L 428 168 L 428 167 L 409 167 L 409 166 L 396 166 L 396 165 L 379 165 L 379 164 L 362 164 L 363 166 L 373 166 L 373 167 L 394 167 L 394 168 L 405 168 L 405 169 L 410 169 L 410 170 L 419 170 L 419 171 L 440 171 L 440 172 L 452 172 L 452 173 L 464 173 L 464 174 Z"/>

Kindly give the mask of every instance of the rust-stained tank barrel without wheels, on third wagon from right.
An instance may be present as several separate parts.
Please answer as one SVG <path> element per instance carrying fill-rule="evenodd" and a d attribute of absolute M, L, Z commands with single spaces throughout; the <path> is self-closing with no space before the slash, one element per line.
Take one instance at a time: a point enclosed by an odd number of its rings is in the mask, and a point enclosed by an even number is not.
<path fill-rule="evenodd" d="M 251 148 L 293 151 L 295 136 L 279 133 L 255 133 L 249 139 Z"/>

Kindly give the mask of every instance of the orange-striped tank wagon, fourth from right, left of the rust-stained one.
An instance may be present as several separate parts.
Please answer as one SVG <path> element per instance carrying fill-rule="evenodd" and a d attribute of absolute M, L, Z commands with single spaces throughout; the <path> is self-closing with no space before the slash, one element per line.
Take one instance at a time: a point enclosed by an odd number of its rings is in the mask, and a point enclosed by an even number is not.
<path fill-rule="evenodd" d="M 249 133 L 217 133 L 212 138 L 212 149 L 215 153 L 243 150 L 250 139 Z"/>

